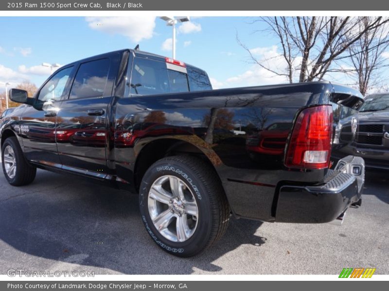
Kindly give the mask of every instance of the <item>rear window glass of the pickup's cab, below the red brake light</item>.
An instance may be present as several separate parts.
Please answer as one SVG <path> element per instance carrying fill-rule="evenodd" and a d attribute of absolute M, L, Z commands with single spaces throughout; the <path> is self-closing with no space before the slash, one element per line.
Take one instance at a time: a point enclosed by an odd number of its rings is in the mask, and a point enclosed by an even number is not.
<path fill-rule="evenodd" d="M 165 62 L 134 58 L 131 95 L 159 95 L 208 89 L 212 88 L 205 73 L 201 75 L 190 68 L 182 68 L 182 71 L 172 70 L 167 68 Z"/>

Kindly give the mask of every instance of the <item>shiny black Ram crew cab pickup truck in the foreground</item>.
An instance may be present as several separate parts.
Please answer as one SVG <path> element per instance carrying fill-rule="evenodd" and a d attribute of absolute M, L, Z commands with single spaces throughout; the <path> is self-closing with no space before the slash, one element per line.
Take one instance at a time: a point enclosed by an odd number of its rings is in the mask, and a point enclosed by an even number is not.
<path fill-rule="evenodd" d="M 212 90 L 203 70 L 133 49 L 65 65 L 1 119 L 11 185 L 36 168 L 139 193 L 141 219 L 165 251 L 193 256 L 230 216 L 341 220 L 360 202 L 361 158 L 332 165 L 339 117 L 361 95 L 329 82 Z"/>

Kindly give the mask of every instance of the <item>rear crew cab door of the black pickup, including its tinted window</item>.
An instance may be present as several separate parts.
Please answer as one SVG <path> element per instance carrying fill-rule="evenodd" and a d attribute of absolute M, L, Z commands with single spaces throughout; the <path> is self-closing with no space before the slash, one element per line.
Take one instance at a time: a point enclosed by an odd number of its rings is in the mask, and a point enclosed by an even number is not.
<path fill-rule="evenodd" d="M 119 54 L 78 65 L 69 97 L 57 116 L 56 140 L 62 168 L 95 178 L 107 173 L 108 112 Z"/>

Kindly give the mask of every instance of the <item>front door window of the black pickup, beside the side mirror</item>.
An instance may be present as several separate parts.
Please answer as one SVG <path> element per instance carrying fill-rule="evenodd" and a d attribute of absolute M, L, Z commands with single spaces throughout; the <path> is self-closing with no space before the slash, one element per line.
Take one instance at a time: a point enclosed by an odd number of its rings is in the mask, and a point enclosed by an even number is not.
<path fill-rule="evenodd" d="M 60 100 L 65 93 L 66 83 L 69 80 L 73 67 L 60 70 L 43 86 L 39 92 L 38 99 L 46 102 L 48 100 Z"/>

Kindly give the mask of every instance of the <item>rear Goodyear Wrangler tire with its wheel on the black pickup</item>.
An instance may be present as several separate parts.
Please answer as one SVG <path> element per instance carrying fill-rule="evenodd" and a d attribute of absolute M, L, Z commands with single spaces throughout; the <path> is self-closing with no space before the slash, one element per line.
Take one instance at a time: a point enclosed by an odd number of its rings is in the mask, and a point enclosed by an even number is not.
<path fill-rule="evenodd" d="M 200 159 L 174 156 L 155 162 L 144 174 L 139 192 L 141 218 L 147 232 L 172 255 L 194 256 L 226 232 L 230 217 L 226 195 L 215 171 Z M 177 192 L 181 199 L 177 199 Z M 169 211 L 170 224 L 166 222 Z M 159 220 L 162 217 L 167 219 Z"/>

